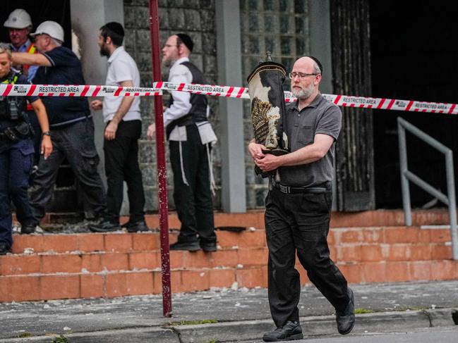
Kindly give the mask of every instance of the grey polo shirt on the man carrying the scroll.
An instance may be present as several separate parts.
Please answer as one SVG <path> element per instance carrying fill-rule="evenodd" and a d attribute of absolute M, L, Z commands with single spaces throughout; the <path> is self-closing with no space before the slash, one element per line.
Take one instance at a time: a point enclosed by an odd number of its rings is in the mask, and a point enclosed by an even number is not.
<path fill-rule="evenodd" d="M 291 152 L 312 144 L 315 135 L 329 135 L 335 140 L 342 127 L 342 111 L 318 94 L 312 103 L 301 111 L 297 103 L 287 104 L 284 128 Z M 280 183 L 294 187 L 317 187 L 334 177 L 335 143 L 327 154 L 313 163 L 279 168 Z"/>

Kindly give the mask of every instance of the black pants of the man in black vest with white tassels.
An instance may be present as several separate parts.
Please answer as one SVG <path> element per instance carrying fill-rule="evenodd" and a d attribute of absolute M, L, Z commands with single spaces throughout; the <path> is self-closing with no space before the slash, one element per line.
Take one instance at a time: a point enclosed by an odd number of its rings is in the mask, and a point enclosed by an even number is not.
<path fill-rule="evenodd" d="M 181 221 L 178 239 L 179 242 L 195 242 L 197 239 L 216 242 L 207 146 L 200 142 L 196 125 L 187 125 L 186 132 L 186 142 L 169 142 L 171 169 L 174 172 L 174 201 Z"/>

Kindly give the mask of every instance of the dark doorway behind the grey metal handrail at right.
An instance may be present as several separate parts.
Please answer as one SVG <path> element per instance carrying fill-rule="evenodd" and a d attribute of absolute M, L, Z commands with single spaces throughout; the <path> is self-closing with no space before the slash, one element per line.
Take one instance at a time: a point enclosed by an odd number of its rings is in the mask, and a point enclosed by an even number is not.
<path fill-rule="evenodd" d="M 370 1 L 373 96 L 458 103 L 458 3 Z M 375 203 L 402 208 L 396 118 L 408 120 L 454 151 L 457 184 L 458 116 L 399 111 L 373 112 Z M 445 158 L 407 134 L 409 170 L 446 194 Z M 433 197 L 411 184 L 412 206 Z M 438 203 L 437 206 L 443 206 Z"/>

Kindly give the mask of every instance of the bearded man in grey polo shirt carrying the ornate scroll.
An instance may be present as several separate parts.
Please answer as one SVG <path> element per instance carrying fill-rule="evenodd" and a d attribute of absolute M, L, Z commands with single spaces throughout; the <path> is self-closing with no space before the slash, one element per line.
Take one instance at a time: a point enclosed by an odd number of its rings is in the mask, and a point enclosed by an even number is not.
<path fill-rule="evenodd" d="M 297 97 L 287 105 L 283 118 L 291 153 L 263 154 L 265 146 L 254 139 L 248 144 L 261 170 L 277 170 L 275 177 L 270 177 L 265 199 L 268 297 L 277 329 L 264 335 L 266 342 L 303 338 L 297 307 L 301 283 L 294 268 L 296 252 L 308 278 L 335 307 L 339 332 L 346 335 L 354 326 L 353 292 L 330 259 L 327 246 L 335 141 L 342 112 L 318 91 L 322 73 L 321 63 L 311 56 L 299 58 L 289 73 L 291 92 Z"/>

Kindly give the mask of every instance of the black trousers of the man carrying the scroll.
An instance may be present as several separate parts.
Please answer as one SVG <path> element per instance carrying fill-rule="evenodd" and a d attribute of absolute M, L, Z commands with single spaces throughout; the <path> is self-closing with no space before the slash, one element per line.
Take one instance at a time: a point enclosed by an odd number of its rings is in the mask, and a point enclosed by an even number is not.
<path fill-rule="evenodd" d="M 283 194 L 274 188 L 267 194 L 268 297 L 277 328 L 287 320 L 299 321 L 296 252 L 308 278 L 332 306 L 343 311 L 348 304 L 345 277 L 331 261 L 327 246 L 331 206 L 332 192 Z"/>

